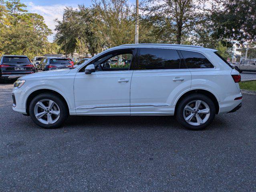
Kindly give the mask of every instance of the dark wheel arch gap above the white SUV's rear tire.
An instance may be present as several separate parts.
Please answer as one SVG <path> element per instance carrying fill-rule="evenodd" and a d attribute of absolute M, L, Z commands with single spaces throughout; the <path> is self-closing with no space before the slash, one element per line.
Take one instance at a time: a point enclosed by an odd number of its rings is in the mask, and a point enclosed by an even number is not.
<path fill-rule="evenodd" d="M 214 106 L 216 108 L 216 114 L 219 113 L 219 110 L 220 110 L 220 106 L 219 106 L 219 102 L 218 102 L 218 97 L 213 94 L 212 92 L 210 92 L 209 90 L 205 90 L 205 89 L 193 89 L 193 90 L 189 90 L 185 93 L 183 93 L 182 95 L 179 96 L 179 98 L 177 98 L 177 100 L 175 101 L 175 112 L 177 111 L 177 106 L 179 105 L 179 102 L 181 102 L 181 100 L 189 95 L 189 94 L 192 94 L 192 93 L 200 93 L 200 94 L 203 94 L 205 96 L 208 96 L 213 102 L 214 102 Z"/>

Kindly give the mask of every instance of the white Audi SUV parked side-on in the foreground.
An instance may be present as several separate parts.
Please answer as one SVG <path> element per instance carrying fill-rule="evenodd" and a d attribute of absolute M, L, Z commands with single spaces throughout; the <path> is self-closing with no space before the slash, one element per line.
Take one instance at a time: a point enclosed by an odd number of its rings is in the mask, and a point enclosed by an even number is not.
<path fill-rule="evenodd" d="M 242 106 L 239 72 L 216 52 L 171 44 L 110 48 L 77 68 L 19 78 L 13 110 L 43 128 L 61 126 L 69 115 L 175 115 L 200 130 L 215 114 Z"/>

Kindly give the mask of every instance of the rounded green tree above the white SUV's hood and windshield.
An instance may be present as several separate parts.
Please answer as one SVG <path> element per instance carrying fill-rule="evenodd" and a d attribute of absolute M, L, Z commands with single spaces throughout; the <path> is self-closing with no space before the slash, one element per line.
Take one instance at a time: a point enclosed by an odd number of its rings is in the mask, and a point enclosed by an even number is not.
<path fill-rule="evenodd" d="M 63 14 L 63 20 L 56 20 L 57 31 L 55 40 L 67 54 L 75 51 L 77 39 L 87 42 L 89 52 L 94 55 L 102 51 L 103 41 L 98 36 L 95 15 L 90 8 L 79 5 L 74 10 L 67 7 Z"/>

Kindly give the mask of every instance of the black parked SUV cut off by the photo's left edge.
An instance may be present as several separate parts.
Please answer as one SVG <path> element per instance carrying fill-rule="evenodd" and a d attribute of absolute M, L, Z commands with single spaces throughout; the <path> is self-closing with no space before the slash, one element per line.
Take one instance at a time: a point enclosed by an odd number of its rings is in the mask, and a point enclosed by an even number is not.
<path fill-rule="evenodd" d="M 15 79 L 34 73 L 34 66 L 27 56 L 3 55 L 0 58 L 0 80 Z"/>

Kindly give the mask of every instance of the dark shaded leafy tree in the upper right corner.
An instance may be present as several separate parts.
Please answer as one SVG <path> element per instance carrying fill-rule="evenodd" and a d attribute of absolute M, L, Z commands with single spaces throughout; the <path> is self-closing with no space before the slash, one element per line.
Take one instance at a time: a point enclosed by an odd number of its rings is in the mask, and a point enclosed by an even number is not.
<path fill-rule="evenodd" d="M 255 0 L 215 0 L 212 11 L 216 38 L 244 42 L 256 39 Z"/>

